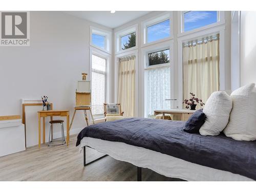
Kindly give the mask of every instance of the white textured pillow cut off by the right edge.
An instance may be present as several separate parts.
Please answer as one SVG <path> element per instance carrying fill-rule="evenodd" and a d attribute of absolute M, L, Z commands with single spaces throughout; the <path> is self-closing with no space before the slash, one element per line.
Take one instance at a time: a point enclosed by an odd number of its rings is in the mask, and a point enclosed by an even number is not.
<path fill-rule="evenodd" d="M 256 88 L 255 83 L 231 93 L 233 108 L 224 134 L 236 140 L 256 140 Z"/>

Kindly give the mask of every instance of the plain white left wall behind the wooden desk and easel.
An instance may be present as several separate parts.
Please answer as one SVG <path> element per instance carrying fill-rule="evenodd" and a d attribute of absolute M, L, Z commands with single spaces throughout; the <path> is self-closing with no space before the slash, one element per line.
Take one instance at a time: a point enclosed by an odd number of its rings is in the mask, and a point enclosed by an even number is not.
<path fill-rule="evenodd" d="M 112 31 L 59 11 L 30 12 L 30 47 L 0 47 L 0 116 L 20 114 L 22 98 L 48 95 L 72 117 L 77 80 L 89 73 L 90 25 Z M 78 112 L 73 128 L 84 126 Z"/>

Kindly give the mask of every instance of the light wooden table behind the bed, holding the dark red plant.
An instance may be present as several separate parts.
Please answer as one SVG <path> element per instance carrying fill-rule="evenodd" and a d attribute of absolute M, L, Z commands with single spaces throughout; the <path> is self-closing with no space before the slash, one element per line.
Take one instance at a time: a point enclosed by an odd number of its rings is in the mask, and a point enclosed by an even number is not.
<path fill-rule="evenodd" d="M 164 114 L 180 115 L 182 121 L 186 121 L 196 110 L 155 110 L 154 114 L 162 114 L 164 119 Z"/>

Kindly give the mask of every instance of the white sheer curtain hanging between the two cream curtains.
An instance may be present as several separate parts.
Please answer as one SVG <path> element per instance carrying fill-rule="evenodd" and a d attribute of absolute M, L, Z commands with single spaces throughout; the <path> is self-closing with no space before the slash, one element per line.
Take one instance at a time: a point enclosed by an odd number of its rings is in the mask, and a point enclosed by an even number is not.
<path fill-rule="evenodd" d="M 154 110 L 170 109 L 170 66 L 147 69 L 147 115 Z"/>

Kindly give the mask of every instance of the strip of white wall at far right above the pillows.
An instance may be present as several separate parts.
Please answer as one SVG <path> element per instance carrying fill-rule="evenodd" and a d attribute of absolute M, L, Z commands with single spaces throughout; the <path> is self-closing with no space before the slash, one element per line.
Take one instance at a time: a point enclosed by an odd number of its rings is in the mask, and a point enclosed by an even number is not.
<path fill-rule="evenodd" d="M 241 86 L 256 83 L 256 12 L 241 12 Z M 238 77 L 239 78 L 239 77 Z"/>

